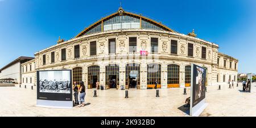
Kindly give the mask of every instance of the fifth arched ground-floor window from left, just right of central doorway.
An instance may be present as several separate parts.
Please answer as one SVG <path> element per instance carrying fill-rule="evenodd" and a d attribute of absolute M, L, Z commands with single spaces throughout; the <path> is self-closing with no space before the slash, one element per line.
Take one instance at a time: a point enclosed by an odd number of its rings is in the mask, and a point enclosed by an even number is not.
<path fill-rule="evenodd" d="M 161 88 L 161 65 L 150 63 L 147 65 L 147 88 L 154 88 L 157 80 L 157 88 Z"/>

